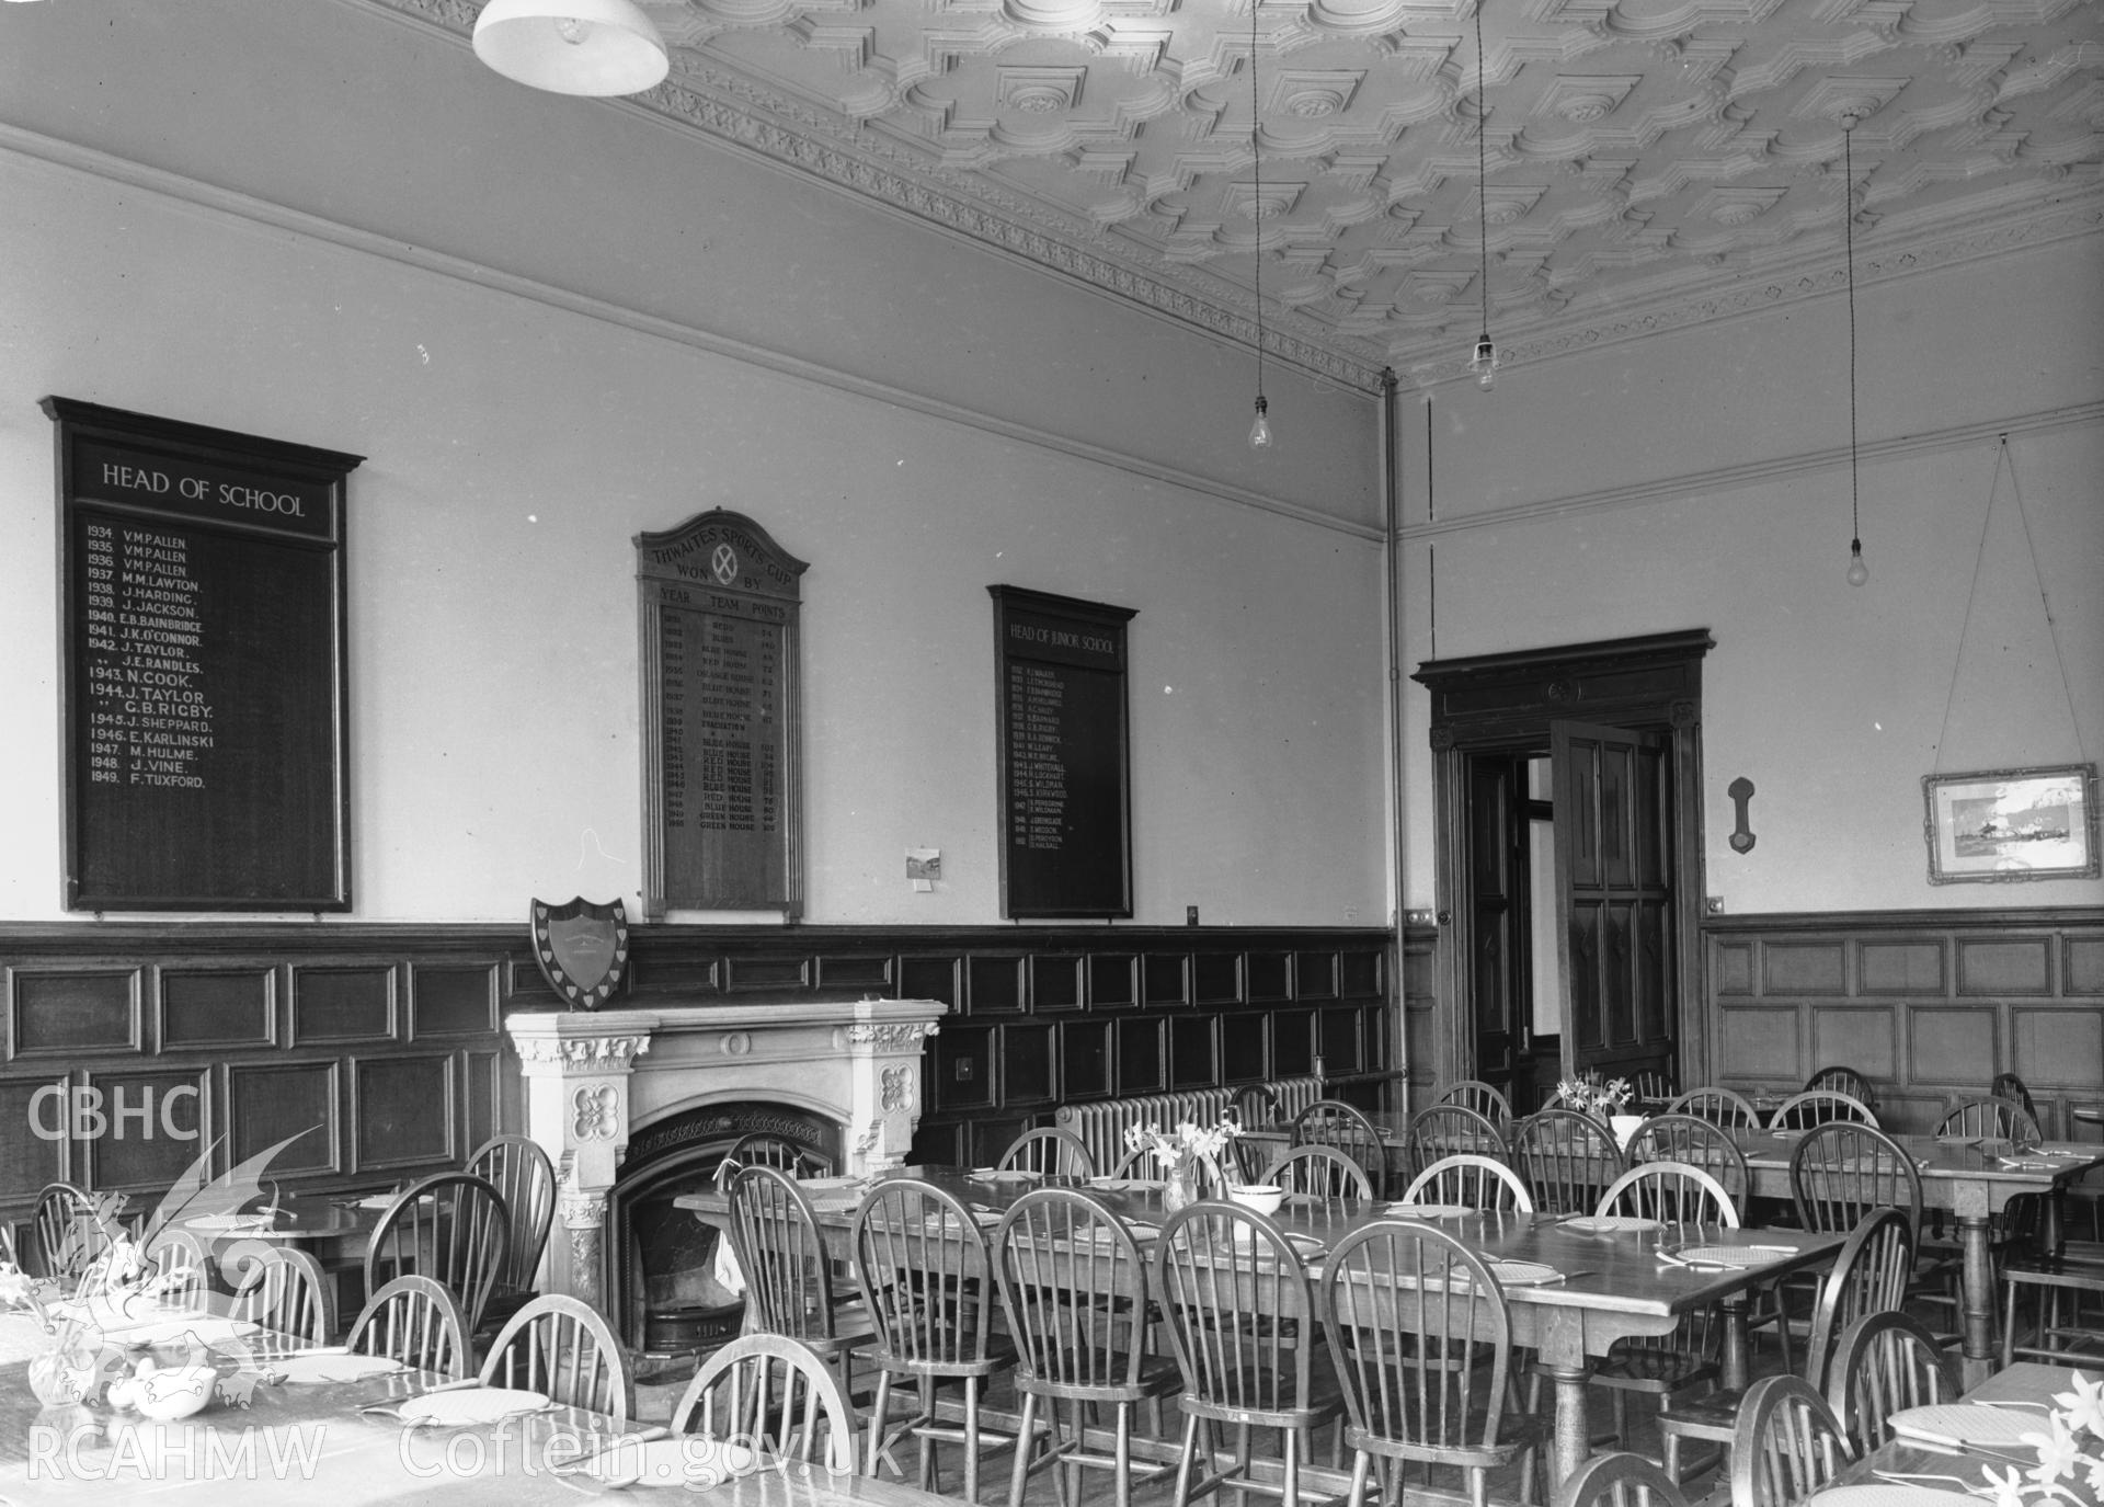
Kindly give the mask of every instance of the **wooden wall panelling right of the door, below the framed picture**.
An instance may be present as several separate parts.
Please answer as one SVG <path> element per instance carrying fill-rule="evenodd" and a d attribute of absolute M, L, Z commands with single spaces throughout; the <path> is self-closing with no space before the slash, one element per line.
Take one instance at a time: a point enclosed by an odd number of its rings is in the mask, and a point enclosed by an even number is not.
<path fill-rule="evenodd" d="M 2070 1111 L 2104 1107 L 2104 909 L 1715 918 L 1704 953 L 1727 1088 L 1843 1063 L 1881 1122 L 1929 1130 L 2014 1071 L 2047 1137 L 2098 1139 Z"/>

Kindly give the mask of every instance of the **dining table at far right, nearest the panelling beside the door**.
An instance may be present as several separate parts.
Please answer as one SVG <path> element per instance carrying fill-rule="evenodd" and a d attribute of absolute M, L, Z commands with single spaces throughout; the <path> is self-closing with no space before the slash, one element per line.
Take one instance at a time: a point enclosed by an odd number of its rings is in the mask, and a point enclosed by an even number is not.
<path fill-rule="evenodd" d="M 1803 1130 L 1734 1130 L 1746 1153 L 1757 1198 L 1791 1200 L 1791 1153 L 1805 1139 Z M 1921 1174 L 1921 1206 L 1957 1217 L 1961 1246 L 1961 1347 L 1963 1379 L 1971 1387 L 1995 1366 L 1995 1265 L 1988 1252 L 1988 1217 L 2009 1206 L 2022 1193 L 2051 1193 L 2066 1187 L 2093 1166 L 2104 1166 L 2104 1145 L 2047 1143 L 2064 1156 L 2032 1158 L 2009 1166 L 1980 1151 L 1978 1137 L 1938 1139 L 1931 1134 L 1898 1134 L 1894 1141 L 1915 1158 Z M 2032 1153 L 2026 1153 L 2032 1156 Z M 2047 1200 L 2047 1210 L 2054 1202 Z M 2058 1240 L 2051 1231 L 2047 1240 Z"/>

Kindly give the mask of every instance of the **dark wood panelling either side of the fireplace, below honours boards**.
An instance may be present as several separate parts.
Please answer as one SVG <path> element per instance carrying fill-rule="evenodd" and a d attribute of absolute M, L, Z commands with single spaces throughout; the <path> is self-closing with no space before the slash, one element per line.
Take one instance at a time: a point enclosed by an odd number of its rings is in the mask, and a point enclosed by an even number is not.
<path fill-rule="evenodd" d="M 1365 928 L 648 926 L 614 1004 L 943 1000 L 915 1153 L 978 1162 L 1069 1099 L 1294 1078 L 1317 1057 L 1374 1103 L 1389 970 L 1391 937 Z M 225 1170 L 305 1132 L 274 1166 L 288 1191 L 457 1166 L 522 1120 L 503 1014 L 558 1008 L 524 924 L 6 924 L 0 989 L 0 1219 L 55 1179 L 151 1193 L 219 1137 Z M 154 1132 L 40 1139 L 46 1084 L 105 1111 L 151 1090 Z M 202 1139 L 162 1132 L 170 1088 L 196 1090 L 170 1124 Z"/>

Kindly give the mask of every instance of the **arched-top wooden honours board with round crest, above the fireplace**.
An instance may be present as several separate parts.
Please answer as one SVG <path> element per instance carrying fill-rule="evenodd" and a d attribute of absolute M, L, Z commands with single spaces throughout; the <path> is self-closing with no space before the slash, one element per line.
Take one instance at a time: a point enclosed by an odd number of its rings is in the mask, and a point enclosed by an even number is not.
<path fill-rule="evenodd" d="M 797 612 L 804 562 L 715 509 L 635 539 L 644 913 L 802 911 Z"/>

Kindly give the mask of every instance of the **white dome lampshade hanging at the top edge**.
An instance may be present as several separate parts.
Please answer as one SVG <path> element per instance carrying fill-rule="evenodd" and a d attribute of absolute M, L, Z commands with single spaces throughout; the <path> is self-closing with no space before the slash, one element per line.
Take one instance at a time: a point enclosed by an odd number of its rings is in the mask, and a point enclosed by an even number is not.
<path fill-rule="evenodd" d="M 665 38 L 635 0 L 488 0 L 476 57 L 555 95 L 640 95 L 671 72 Z"/>

